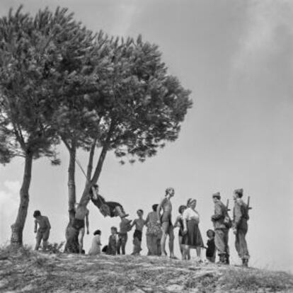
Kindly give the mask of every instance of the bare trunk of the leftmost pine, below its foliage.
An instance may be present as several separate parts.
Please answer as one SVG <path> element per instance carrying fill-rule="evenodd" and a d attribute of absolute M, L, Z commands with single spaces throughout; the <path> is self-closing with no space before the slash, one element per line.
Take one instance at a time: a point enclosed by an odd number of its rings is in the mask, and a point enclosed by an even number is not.
<path fill-rule="evenodd" d="M 28 202 L 29 202 L 29 189 L 30 180 L 32 176 L 33 167 L 33 154 L 27 151 L 25 154 L 25 168 L 23 174 L 23 184 L 21 185 L 20 199 L 21 202 L 18 207 L 18 214 L 16 222 L 11 225 L 11 245 L 22 246 L 23 245 L 23 228 L 25 225 L 25 219 L 28 214 Z"/>

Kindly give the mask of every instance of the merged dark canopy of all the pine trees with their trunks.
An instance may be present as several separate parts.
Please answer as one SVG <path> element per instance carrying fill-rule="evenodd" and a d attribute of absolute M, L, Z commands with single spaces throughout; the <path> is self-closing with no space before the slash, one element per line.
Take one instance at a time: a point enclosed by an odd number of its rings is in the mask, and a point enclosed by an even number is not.
<path fill-rule="evenodd" d="M 67 8 L 0 18 L 0 163 L 25 157 L 18 242 L 28 209 L 33 159 L 58 164 L 69 151 L 69 209 L 76 202 L 76 150 L 88 151 L 87 205 L 108 151 L 120 163 L 145 161 L 178 138 L 190 91 L 168 74 L 157 45 L 93 33 Z M 100 156 L 94 164 L 95 149 Z M 94 167 L 94 168 L 93 168 Z M 93 172 L 92 172 L 93 169 Z M 16 237 L 17 238 L 17 237 Z"/>

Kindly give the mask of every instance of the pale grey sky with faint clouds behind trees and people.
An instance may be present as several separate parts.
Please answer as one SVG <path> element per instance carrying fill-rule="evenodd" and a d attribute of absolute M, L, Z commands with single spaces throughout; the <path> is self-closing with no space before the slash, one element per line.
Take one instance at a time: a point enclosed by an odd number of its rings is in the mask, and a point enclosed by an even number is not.
<path fill-rule="evenodd" d="M 4 16 L 21 1 L 1 0 Z M 189 197 L 197 199 L 200 230 L 212 227 L 212 193 L 220 191 L 233 203 L 233 190 L 251 197 L 248 248 L 251 265 L 293 271 L 293 1 L 219 0 L 26 0 L 24 11 L 68 7 L 77 20 L 94 31 L 136 38 L 159 45 L 170 74 L 192 91 L 193 108 L 176 142 L 144 163 L 121 166 L 109 153 L 100 176 L 100 193 L 121 202 L 136 217 L 144 216 L 172 186 L 173 217 Z M 33 245 L 33 211 L 50 218 L 50 241 L 64 241 L 67 226 L 69 157 L 59 146 L 61 166 L 48 159 L 33 164 L 30 205 L 24 242 Z M 78 153 L 86 167 L 87 154 Z M 97 159 L 97 158 L 96 158 Z M 23 161 L 0 166 L 0 243 L 7 243 L 16 218 Z M 84 178 L 76 169 L 77 197 Z M 92 232 L 102 231 L 107 243 L 118 219 L 90 210 Z M 132 251 L 132 232 L 127 253 Z M 146 254 L 145 236 L 142 254 Z M 179 256 L 176 231 L 176 254 Z M 229 234 L 232 263 L 240 263 Z M 193 252 L 195 254 L 195 252 Z"/>

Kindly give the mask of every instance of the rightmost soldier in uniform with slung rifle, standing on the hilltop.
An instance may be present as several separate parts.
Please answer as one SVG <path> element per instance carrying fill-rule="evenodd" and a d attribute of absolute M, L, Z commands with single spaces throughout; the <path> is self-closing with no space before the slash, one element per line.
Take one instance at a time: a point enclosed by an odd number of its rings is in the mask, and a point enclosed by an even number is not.
<path fill-rule="evenodd" d="M 243 267 L 248 267 L 249 253 L 246 243 L 246 233 L 248 231 L 248 210 L 249 207 L 249 197 L 248 204 L 242 200 L 243 189 L 234 190 L 234 219 L 233 219 L 233 230 L 236 236 L 235 247 L 242 260 Z"/>

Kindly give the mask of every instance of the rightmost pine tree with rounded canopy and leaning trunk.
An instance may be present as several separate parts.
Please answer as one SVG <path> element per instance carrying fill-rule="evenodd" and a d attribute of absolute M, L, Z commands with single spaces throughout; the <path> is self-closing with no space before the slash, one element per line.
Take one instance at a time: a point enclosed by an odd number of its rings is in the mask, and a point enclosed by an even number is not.
<path fill-rule="evenodd" d="M 158 46 L 128 38 L 109 42 L 112 62 L 93 98 L 103 100 L 99 144 L 101 153 L 91 184 L 96 183 L 108 150 L 120 163 L 134 163 L 154 156 L 180 132 L 192 102 L 190 91 L 168 75 Z M 83 199 L 88 194 L 84 190 Z"/>

